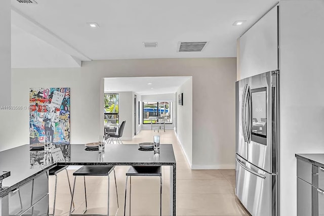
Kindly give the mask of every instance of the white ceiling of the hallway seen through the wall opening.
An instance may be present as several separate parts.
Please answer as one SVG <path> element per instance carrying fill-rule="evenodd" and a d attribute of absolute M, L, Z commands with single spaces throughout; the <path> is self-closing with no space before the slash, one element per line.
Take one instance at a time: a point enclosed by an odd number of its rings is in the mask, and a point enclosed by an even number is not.
<path fill-rule="evenodd" d="M 189 78 L 190 76 L 104 78 L 104 91 L 135 92 L 139 95 L 170 94 L 177 92 L 177 89 Z"/>

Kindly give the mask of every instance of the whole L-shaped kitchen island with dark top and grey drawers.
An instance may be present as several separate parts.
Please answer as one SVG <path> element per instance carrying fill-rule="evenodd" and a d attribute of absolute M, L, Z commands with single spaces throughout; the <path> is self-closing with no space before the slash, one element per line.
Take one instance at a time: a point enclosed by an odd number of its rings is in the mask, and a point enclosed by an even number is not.
<path fill-rule="evenodd" d="M 139 149 L 136 144 L 108 144 L 105 145 L 104 153 L 87 150 L 89 149 L 84 145 L 68 145 L 69 154 L 64 161 L 60 162 L 49 161 L 49 154 L 45 154 L 44 151 L 36 153 L 30 151 L 29 145 L 0 152 L 0 171 L 11 172 L 11 176 L 3 180 L 4 188 L 0 190 L 1 216 L 13 213 L 42 215 L 44 211 L 48 214 L 47 171 L 56 165 L 172 166 L 170 168 L 170 185 L 173 185 L 170 187 L 170 215 L 176 215 L 176 160 L 171 144 L 160 145 L 159 157 L 154 157 L 153 151 Z M 35 154 L 38 156 L 37 160 L 41 161 L 41 166 L 32 165 L 30 156 Z M 16 206 L 9 206 L 10 199 L 16 200 L 11 202 L 16 203 Z"/>

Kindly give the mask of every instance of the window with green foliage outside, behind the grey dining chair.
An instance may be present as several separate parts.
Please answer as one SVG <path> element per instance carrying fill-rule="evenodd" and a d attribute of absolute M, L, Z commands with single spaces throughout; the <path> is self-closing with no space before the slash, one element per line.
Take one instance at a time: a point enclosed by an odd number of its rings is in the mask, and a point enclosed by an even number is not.
<path fill-rule="evenodd" d="M 118 123 L 119 119 L 119 95 L 104 94 L 105 122 Z"/>

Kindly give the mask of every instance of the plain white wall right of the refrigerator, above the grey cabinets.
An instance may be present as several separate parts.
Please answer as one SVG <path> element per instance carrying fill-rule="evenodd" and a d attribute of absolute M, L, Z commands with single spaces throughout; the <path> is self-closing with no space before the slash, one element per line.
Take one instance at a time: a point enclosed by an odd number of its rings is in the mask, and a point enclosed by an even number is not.
<path fill-rule="evenodd" d="M 279 11 L 280 215 L 295 216 L 295 153 L 324 153 L 324 1 L 281 1 Z"/>

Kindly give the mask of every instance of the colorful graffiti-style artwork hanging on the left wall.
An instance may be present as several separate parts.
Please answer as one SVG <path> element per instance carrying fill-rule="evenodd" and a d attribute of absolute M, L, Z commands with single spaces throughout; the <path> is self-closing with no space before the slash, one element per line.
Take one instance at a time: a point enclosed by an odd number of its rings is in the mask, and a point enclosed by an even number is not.
<path fill-rule="evenodd" d="M 70 143 L 70 88 L 29 89 L 29 144 Z"/>

